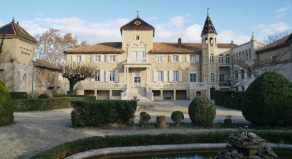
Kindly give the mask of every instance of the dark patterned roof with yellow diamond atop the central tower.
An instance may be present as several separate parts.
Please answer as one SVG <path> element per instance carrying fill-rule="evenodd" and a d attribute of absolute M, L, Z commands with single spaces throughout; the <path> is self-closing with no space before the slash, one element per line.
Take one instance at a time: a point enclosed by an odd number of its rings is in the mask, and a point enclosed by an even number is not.
<path fill-rule="evenodd" d="M 121 30 L 124 29 L 154 29 L 151 25 L 146 23 L 144 20 L 140 19 L 140 17 L 136 17 L 132 21 L 128 22 L 128 24 L 121 27 Z"/>

